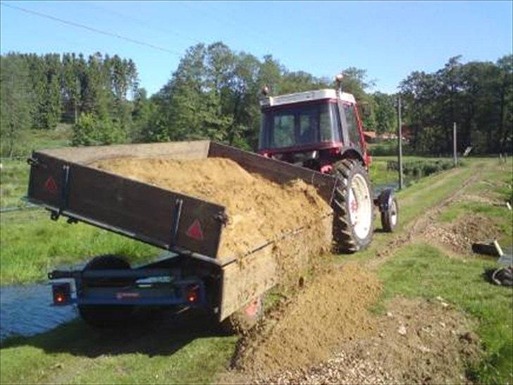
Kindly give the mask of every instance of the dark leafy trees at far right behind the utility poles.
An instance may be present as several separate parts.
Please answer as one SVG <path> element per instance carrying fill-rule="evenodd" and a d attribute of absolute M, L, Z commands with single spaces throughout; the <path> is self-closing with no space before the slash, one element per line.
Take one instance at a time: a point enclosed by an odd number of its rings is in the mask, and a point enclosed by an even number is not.
<path fill-rule="evenodd" d="M 513 56 L 495 63 L 450 58 L 433 73 L 415 71 L 401 82 L 404 122 L 417 153 L 452 152 L 452 126 L 462 152 L 512 152 Z"/>

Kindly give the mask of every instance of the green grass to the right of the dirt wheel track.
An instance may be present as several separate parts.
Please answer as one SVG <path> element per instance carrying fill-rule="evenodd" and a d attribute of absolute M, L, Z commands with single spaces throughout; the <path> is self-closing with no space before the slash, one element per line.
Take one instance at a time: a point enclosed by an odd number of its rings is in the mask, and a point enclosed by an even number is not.
<path fill-rule="evenodd" d="M 499 166 L 497 160 L 473 160 L 469 170 L 485 171 L 464 190 L 469 195 L 494 195 L 503 202 L 511 200 L 512 164 Z M 454 171 L 449 171 L 454 172 Z M 461 181 L 447 181 L 457 187 Z M 402 193 L 402 221 L 413 218 L 421 207 L 414 207 L 415 190 Z M 419 201 L 417 201 L 419 202 Z M 430 204 L 431 205 L 431 204 Z M 454 223 L 472 214 L 491 219 L 500 228 L 500 243 L 512 245 L 512 212 L 486 202 L 455 202 L 445 207 L 436 221 L 440 225 Z M 379 247 L 379 241 L 373 249 Z M 372 253 L 372 251 L 371 251 Z M 404 245 L 378 268 L 385 288 L 383 300 L 402 295 L 409 298 L 433 299 L 438 296 L 455 308 L 476 319 L 476 334 L 483 343 L 483 358 L 468 368 L 469 377 L 485 384 L 513 384 L 513 292 L 511 288 L 494 286 L 483 279 L 484 271 L 497 267 L 495 258 L 476 255 L 447 255 L 443 247 L 416 241 Z"/>

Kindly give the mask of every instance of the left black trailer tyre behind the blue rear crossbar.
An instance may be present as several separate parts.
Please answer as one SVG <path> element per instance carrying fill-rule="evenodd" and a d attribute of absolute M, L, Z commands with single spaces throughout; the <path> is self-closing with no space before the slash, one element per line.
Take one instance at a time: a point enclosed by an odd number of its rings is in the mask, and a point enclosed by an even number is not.
<path fill-rule="evenodd" d="M 117 255 L 101 255 L 91 259 L 84 268 L 86 270 L 130 269 L 130 264 Z M 84 284 L 88 286 L 123 287 L 134 283 L 133 279 L 94 279 Z M 113 327 L 129 322 L 132 319 L 134 307 L 131 305 L 78 305 L 80 317 L 94 327 Z"/>

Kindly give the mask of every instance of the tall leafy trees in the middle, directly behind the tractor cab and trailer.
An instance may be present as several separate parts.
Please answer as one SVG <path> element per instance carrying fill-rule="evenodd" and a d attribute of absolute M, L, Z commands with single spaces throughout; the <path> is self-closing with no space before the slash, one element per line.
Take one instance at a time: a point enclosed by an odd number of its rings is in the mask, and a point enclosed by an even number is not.
<path fill-rule="evenodd" d="M 370 105 L 364 123 L 369 129 L 392 130 L 393 97 L 367 90 L 366 71 L 347 68 L 343 88 Z M 197 44 L 185 53 L 171 80 L 150 99 L 148 118 L 140 127 L 141 141 L 211 138 L 254 149 L 259 132 L 259 95 L 267 85 L 271 94 L 287 94 L 334 87 L 333 80 L 304 71 L 289 71 L 271 55 L 262 60 L 234 52 L 218 42 Z"/>

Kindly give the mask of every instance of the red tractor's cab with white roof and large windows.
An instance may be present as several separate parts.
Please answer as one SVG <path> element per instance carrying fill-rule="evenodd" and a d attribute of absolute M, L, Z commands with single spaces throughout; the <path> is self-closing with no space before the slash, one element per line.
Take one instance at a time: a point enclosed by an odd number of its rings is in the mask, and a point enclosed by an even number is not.
<path fill-rule="evenodd" d="M 354 97 L 336 90 L 264 94 L 259 153 L 321 172 L 342 158 L 370 160 Z"/>

